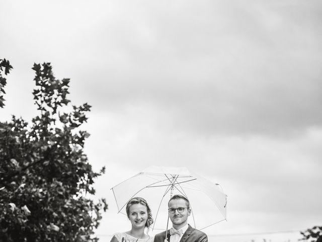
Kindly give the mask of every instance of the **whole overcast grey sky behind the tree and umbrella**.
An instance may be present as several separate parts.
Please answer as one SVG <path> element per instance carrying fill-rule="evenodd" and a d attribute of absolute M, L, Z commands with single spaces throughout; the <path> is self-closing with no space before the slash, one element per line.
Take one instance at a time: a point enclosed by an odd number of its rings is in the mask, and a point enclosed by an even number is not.
<path fill-rule="evenodd" d="M 0 20 L 0 58 L 14 67 L 0 120 L 36 115 L 33 63 L 52 63 L 72 103 L 93 106 L 84 129 L 90 163 L 107 168 L 102 241 L 130 228 L 110 188 L 150 165 L 222 186 L 228 221 L 208 234 L 321 225 L 320 1 L 0 0 Z"/>

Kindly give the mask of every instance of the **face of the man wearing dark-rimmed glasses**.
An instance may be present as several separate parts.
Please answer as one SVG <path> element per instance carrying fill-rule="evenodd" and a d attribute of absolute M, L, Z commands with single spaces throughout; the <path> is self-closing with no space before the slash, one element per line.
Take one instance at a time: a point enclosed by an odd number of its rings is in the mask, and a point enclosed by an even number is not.
<path fill-rule="evenodd" d="M 169 208 L 185 208 L 182 213 L 175 210 L 175 213 L 170 213 L 169 216 L 173 227 L 180 229 L 187 224 L 188 216 L 190 216 L 191 210 L 187 208 L 187 203 L 183 199 L 174 199 L 169 202 Z"/>

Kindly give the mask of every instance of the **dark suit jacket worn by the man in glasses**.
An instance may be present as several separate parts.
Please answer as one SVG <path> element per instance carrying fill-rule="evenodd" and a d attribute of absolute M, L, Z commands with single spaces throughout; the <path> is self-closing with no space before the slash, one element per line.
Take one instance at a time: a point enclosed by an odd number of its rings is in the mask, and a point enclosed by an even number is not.
<path fill-rule="evenodd" d="M 168 242 L 170 242 L 170 232 L 167 233 Z M 166 239 L 166 231 L 155 234 L 154 242 L 164 242 Z M 186 232 L 183 234 L 180 242 L 208 242 L 208 237 L 204 232 L 195 229 L 188 224 Z"/>

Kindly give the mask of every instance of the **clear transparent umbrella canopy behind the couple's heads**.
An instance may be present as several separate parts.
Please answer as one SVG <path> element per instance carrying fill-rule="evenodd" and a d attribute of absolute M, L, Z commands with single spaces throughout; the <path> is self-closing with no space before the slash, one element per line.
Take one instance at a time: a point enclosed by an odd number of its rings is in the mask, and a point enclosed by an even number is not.
<path fill-rule="evenodd" d="M 185 167 L 151 166 L 112 188 L 118 212 L 126 214 L 127 202 L 142 197 L 149 204 L 152 229 L 165 230 L 168 202 L 175 194 L 188 198 L 192 215 L 188 223 L 203 229 L 226 219 L 226 194 L 215 184 Z"/>

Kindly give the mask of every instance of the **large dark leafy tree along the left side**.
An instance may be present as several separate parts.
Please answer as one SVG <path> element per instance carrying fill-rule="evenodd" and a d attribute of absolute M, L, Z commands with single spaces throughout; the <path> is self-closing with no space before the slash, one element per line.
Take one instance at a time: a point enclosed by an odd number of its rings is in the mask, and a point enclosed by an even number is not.
<path fill-rule="evenodd" d="M 0 59 L 0 107 L 11 68 Z M 107 204 L 90 196 L 105 167 L 92 170 L 83 151 L 89 134 L 79 130 L 91 106 L 70 105 L 69 79 L 56 79 L 50 63 L 32 69 L 39 114 L 30 124 L 15 116 L 0 123 L 0 241 L 98 241 Z"/>

